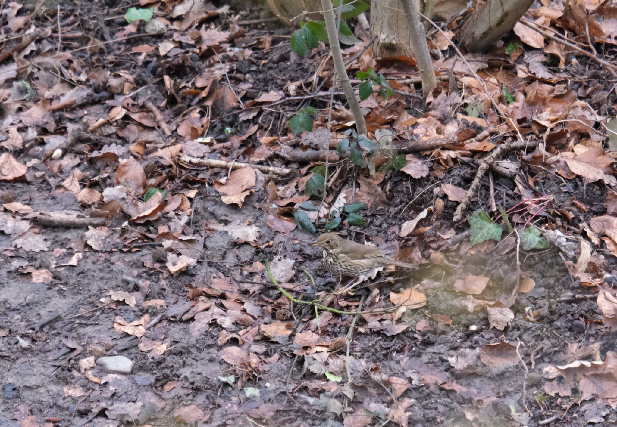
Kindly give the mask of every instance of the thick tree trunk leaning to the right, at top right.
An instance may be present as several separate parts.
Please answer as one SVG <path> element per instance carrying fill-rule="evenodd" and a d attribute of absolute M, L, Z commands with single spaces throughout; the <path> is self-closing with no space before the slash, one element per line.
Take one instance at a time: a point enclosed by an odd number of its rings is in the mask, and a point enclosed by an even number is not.
<path fill-rule="evenodd" d="M 458 31 L 463 46 L 472 52 L 486 52 L 510 31 L 533 0 L 487 0 Z"/>

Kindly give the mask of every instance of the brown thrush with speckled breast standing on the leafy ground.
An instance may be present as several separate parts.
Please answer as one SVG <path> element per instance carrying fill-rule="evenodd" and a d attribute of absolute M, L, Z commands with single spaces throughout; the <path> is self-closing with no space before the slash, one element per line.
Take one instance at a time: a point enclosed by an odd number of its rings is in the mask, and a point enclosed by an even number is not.
<path fill-rule="evenodd" d="M 397 266 L 407 269 L 417 267 L 408 262 L 394 261 L 386 255 L 392 251 L 383 251 L 375 246 L 362 245 L 361 243 L 347 240 L 335 233 L 324 233 L 317 238 L 312 246 L 323 248 L 323 259 L 326 266 L 341 275 L 357 277 L 357 282 L 344 289 L 348 292 L 358 283 L 368 279 L 373 270 L 379 267 Z"/>

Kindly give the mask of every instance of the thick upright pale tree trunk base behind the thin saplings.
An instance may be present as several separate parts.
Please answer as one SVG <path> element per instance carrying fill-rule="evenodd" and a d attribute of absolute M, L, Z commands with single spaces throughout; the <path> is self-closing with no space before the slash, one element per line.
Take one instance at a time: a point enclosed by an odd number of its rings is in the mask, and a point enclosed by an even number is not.
<path fill-rule="evenodd" d="M 371 0 L 371 37 L 377 36 L 371 46 L 375 58 L 414 56 L 404 10 L 401 0 Z"/>

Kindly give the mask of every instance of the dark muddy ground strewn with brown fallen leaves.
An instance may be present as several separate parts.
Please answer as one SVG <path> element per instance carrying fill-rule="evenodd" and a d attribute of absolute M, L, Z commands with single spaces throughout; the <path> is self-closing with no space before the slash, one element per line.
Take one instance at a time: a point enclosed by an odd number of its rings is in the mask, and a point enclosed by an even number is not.
<path fill-rule="evenodd" d="M 402 162 L 371 171 L 335 151 L 323 43 L 300 57 L 263 6 L 105 3 L 0 5 L 1 426 L 617 423 L 610 67 L 524 27 L 472 71 L 429 32 L 425 105 L 350 20 L 349 75 L 396 89 L 361 104 Z M 589 38 L 558 6 L 527 16 L 615 57 L 615 8 Z M 418 268 L 335 295 L 312 227 Z"/>

